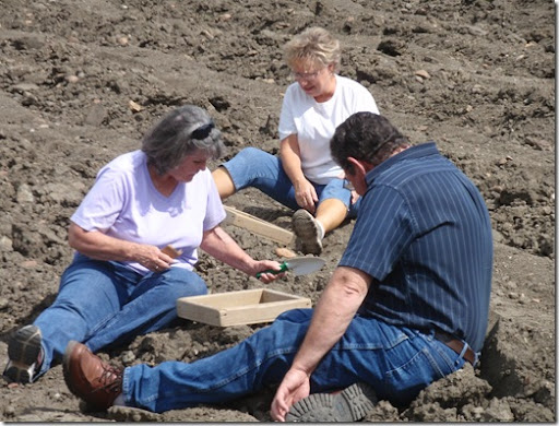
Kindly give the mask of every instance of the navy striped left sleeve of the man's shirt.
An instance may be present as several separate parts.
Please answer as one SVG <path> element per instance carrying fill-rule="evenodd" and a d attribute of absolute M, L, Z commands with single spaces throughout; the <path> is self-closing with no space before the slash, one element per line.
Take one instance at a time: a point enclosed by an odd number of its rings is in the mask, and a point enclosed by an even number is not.
<path fill-rule="evenodd" d="M 402 196 L 388 187 L 361 200 L 359 215 L 340 261 L 383 281 L 413 240 L 414 220 Z"/>

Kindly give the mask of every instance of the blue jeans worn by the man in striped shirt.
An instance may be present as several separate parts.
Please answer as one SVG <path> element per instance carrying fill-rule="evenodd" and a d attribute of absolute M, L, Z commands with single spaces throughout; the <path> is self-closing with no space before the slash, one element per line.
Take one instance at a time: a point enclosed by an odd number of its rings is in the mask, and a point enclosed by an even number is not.
<path fill-rule="evenodd" d="M 276 386 L 287 372 L 310 323 L 312 309 L 282 313 L 238 345 L 187 364 L 124 369 L 127 405 L 153 412 L 223 403 Z M 369 383 L 379 399 L 408 404 L 429 383 L 465 360 L 433 333 L 420 333 L 356 316 L 311 376 L 311 393 Z"/>

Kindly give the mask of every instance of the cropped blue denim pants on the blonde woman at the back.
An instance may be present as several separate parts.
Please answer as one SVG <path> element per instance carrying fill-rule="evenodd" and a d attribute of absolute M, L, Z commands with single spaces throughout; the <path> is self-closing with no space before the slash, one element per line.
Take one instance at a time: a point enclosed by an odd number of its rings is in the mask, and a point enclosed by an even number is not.
<path fill-rule="evenodd" d="M 246 147 L 222 166 L 229 173 L 237 191 L 248 187 L 258 188 L 289 209 L 300 209 L 295 200 L 292 180 L 277 156 L 255 147 Z M 348 208 L 348 217 L 357 216 L 360 199 L 350 205 L 352 192 L 344 188 L 344 179 L 333 178 L 328 185 L 311 184 L 319 197 L 318 204 L 328 199 L 337 199 Z"/>

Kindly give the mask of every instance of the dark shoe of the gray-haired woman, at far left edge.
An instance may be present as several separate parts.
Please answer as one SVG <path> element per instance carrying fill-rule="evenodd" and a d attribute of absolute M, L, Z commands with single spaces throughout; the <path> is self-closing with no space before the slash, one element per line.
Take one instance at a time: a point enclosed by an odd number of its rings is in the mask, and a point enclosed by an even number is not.
<path fill-rule="evenodd" d="M 3 376 L 10 382 L 31 383 L 37 379 L 43 364 L 41 335 L 37 326 L 17 330 L 8 343 L 8 365 Z"/>

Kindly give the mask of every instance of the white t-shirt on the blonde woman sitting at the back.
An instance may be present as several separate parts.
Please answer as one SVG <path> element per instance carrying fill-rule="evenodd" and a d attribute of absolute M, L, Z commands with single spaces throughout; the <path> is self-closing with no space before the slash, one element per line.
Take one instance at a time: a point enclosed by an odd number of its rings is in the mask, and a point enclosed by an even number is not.
<path fill-rule="evenodd" d="M 326 102 L 318 103 L 299 83 L 285 92 L 280 116 L 280 140 L 297 134 L 302 173 L 314 184 L 325 185 L 342 173 L 330 153 L 330 140 L 336 127 L 360 111 L 379 114 L 370 92 L 356 81 L 335 75 L 336 90 Z"/>

